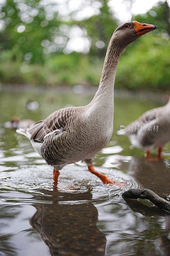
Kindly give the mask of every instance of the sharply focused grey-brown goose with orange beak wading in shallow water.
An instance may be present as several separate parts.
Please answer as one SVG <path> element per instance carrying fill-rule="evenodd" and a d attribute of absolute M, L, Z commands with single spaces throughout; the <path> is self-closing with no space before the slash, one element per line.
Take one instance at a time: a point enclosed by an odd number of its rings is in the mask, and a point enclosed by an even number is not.
<path fill-rule="evenodd" d="M 119 57 L 128 44 L 155 28 L 155 25 L 137 21 L 120 25 L 108 44 L 99 88 L 93 100 L 86 106 L 59 109 L 28 129 L 17 130 L 30 140 L 47 164 L 53 166 L 56 183 L 59 171 L 66 164 L 80 160 L 104 184 L 116 183 L 95 171 L 93 159 L 113 133 L 114 81 Z"/>

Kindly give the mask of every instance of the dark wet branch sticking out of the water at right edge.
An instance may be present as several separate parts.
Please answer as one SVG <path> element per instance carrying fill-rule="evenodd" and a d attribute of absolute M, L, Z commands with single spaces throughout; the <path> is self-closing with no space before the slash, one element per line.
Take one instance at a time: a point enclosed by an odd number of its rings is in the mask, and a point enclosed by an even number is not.
<path fill-rule="evenodd" d="M 131 198 L 131 199 L 148 199 L 153 204 L 158 206 L 160 209 L 170 212 L 170 202 L 166 201 L 162 197 L 155 194 L 150 189 L 145 188 L 130 188 L 122 194 L 122 197 Z"/>

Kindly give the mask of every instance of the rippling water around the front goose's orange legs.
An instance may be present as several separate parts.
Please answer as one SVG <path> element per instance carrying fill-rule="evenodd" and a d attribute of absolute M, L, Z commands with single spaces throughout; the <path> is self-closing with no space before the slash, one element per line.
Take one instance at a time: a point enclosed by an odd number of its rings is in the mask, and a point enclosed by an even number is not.
<path fill-rule="evenodd" d="M 70 164 L 60 172 L 58 185 L 54 187 L 51 167 L 34 165 L 2 172 L 1 203 L 106 204 L 120 197 L 123 191 L 138 187 L 131 176 L 121 171 L 101 167 L 97 170 L 126 185 L 122 189 L 112 184 L 104 185 L 86 167 Z"/>

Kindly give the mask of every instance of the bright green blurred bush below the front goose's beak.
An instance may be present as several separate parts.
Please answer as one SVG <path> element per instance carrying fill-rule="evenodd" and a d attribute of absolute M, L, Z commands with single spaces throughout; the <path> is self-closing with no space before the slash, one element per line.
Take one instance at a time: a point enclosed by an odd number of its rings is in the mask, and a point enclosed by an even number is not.
<path fill-rule="evenodd" d="M 169 40 L 151 34 L 141 37 L 139 43 L 120 58 L 116 86 L 133 90 L 168 90 L 169 56 Z"/>

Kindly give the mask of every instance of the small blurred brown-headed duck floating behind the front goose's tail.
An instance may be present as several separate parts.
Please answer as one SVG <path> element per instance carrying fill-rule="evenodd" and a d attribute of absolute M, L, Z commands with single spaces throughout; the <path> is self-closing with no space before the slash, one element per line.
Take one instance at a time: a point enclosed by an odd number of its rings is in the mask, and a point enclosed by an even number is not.
<path fill-rule="evenodd" d="M 5 122 L 5 128 L 11 129 L 20 129 L 20 128 L 28 128 L 31 124 L 34 124 L 35 121 L 30 119 L 19 120 L 17 116 L 12 117 L 11 121 Z"/>

